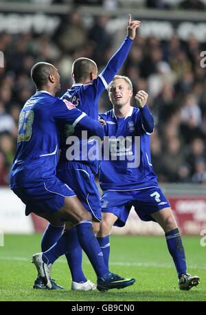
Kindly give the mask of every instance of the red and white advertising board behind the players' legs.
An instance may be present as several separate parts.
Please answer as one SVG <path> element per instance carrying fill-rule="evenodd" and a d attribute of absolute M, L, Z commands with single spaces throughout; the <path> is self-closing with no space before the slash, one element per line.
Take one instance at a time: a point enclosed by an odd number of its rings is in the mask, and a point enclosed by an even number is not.
<path fill-rule="evenodd" d="M 206 230 L 206 195 L 205 197 L 167 197 L 183 235 L 200 235 L 202 230 Z M 36 232 L 43 232 L 47 221 L 33 214 L 32 219 Z M 141 221 L 133 209 L 130 211 L 126 226 L 113 228 L 113 234 L 160 235 L 163 234 L 163 230 L 155 222 Z"/>

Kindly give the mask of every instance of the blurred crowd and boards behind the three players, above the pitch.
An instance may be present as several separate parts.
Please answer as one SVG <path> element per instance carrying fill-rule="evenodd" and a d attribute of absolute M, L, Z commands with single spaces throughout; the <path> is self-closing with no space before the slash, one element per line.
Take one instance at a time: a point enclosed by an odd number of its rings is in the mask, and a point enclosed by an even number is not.
<path fill-rule="evenodd" d="M 134 94 L 149 94 L 152 164 L 182 232 L 206 228 L 206 0 L 8 0 L 0 1 L 0 230 L 18 232 L 16 224 L 5 229 L 22 208 L 8 184 L 19 112 L 35 92 L 32 65 L 56 65 L 63 94 L 74 59 L 92 58 L 102 71 L 126 36 L 128 13 L 141 28 L 119 74 L 132 80 Z M 109 109 L 105 92 L 99 111 Z M 129 233 L 159 232 L 133 212 L 128 224 Z"/>

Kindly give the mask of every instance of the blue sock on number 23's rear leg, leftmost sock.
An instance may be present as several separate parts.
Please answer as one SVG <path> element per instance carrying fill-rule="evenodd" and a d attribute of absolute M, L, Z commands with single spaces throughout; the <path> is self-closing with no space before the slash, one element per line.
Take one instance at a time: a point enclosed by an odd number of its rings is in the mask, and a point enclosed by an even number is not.
<path fill-rule="evenodd" d="M 62 230 L 64 226 L 52 226 L 52 224 L 48 224 L 45 232 L 43 233 L 43 237 L 41 239 L 41 251 L 45 252 L 50 247 L 58 241 L 60 236 L 62 235 Z"/>

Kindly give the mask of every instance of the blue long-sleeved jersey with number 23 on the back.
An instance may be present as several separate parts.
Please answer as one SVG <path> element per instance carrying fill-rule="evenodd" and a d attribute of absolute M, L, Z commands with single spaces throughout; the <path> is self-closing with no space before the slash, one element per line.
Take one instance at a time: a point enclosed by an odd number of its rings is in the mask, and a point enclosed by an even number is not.
<path fill-rule="evenodd" d="M 19 116 L 17 150 L 10 175 L 10 185 L 27 187 L 56 175 L 60 126 L 79 124 L 103 138 L 101 124 L 47 91 L 39 91 L 25 103 Z"/>

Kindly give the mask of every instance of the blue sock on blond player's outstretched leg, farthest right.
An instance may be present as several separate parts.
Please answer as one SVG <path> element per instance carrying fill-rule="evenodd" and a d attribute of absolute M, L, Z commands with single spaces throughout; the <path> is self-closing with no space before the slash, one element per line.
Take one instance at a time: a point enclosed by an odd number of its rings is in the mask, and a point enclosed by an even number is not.
<path fill-rule="evenodd" d="M 174 260 L 176 272 L 179 278 L 187 272 L 187 265 L 185 261 L 185 250 L 178 228 L 165 233 L 165 238 L 168 244 L 168 250 Z"/>

